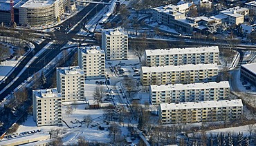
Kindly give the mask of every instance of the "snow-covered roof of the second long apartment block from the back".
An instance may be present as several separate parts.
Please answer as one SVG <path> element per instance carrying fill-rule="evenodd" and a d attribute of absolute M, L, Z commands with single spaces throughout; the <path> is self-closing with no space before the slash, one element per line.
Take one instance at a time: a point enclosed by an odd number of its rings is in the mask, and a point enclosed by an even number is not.
<path fill-rule="evenodd" d="M 186 70 L 218 70 L 217 63 L 210 64 L 186 64 L 186 65 L 166 65 L 158 67 L 141 67 L 143 73 L 146 72 L 175 72 Z"/>

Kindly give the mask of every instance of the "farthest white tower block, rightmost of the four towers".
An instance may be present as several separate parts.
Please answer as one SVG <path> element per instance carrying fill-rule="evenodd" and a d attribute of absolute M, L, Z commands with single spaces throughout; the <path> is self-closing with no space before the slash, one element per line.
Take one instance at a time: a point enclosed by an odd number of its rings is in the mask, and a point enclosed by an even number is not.
<path fill-rule="evenodd" d="M 128 59 L 128 34 L 122 28 L 102 30 L 102 49 L 107 60 Z"/>

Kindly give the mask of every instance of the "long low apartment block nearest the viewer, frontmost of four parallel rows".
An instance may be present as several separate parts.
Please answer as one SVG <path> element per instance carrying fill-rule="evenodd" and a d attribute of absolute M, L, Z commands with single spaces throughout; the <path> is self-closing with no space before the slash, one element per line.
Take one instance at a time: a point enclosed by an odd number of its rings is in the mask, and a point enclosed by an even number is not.
<path fill-rule="evenodd" d="M 243 103 L 241 99 L 161 103 L 159 113 L 162 124 L 237 121 L 243 114 Z"/>

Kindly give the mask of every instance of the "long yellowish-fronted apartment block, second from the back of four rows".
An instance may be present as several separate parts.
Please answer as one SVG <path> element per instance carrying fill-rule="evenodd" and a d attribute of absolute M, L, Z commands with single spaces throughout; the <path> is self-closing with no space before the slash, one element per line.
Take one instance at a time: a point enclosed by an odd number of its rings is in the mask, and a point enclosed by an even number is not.
<path fill-rule="evenodd" d="M 140 81 L 145 86 L 208 82 L 215 81 L 217 74 L 217 63 L 141 67 Z"/>

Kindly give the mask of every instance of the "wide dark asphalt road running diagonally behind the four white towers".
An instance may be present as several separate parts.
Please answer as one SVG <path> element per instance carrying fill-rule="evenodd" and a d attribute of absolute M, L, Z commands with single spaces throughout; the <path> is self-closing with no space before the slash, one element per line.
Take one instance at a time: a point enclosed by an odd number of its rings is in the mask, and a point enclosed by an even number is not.
<path fill-rule="evenodd" d="M 24 82 L 28 78 L 28 76 L 41 70 L 46 64 L 48 64 L 52 59 L 54 59 L 55 56 L 57 56 L 57 54 L 60 54 L 61 52 L 60 49 L 68 41 L 71 41 L 72 37 L 75 36 L 75 34 L 80 31 L 80 29 L 82 28 L 82 24 L 86 23 L 86 21 L 89 21 L 89 19 L 91 19 L 103 7 L 104 6 L 102 4 L 94 4 L 94 3 L 89 4 L 88 6 L 86 6 L 86 8 L 78 12 L 74 17 L 71 17 L 70 19 L 64 21 L 64 23 L 60 24 L 60 26 L 63 25 L 63 28 L 51 34 L 51 39 L 54 39 L 55 43 L 50 45 L 48 50 L 46 50 L 40 56 L 38 56 L 38 58 L 35 59 L 35 61 L 33 61 L 33 63 L 23 72 L 23 74 L 21 74 L 21 76 L 19 76 L 19 78 L 12 85 L 10 85 L 8 89 L 6 89 L 3 93 L 0 94 L 0 101 L 3 100 L 3 98 L 5 98 L 8 94 L 10 94 L 13 90 L 15 90 L 15 88 L 19 86 L 22 82 Z M 81 21 L 81 23 L 78 24 L 77 27 L 74 30 L 72 30 L 70 33 L 66 34 L 66 30 L 64 30 L 65 26 L 70 24 L 75 25 L 91 9 L 93 10 Z M 21 70 L 28 63 L 28 61 L 30 61 L 30 59 L 33 58 L 34 54 L 37 54 L 39 50 L 42 50 L 42 48 L 44 48 L 44 46 L 48 42 L 50 42 L 49 39 L 46 39 L 40 45 L 37 45 L 34 43 L 35 51 L 30 52 L 28 56 L 26 56 L 26 58 L 23 61 L 21 61 L 21 63 L 15 68 L 12 74 L 8 76 L 8 78 L 6 79 L 6 83 L 2 83 L 0 85 L 0 90 L 3 90 L 3 88 L 5 88 L 6 85 L 8 85 L 8 83 L 10 83 L 13 79 L 15 79 L 15 77 L 19 74 L 19 72 L 21 72 Z"/>

